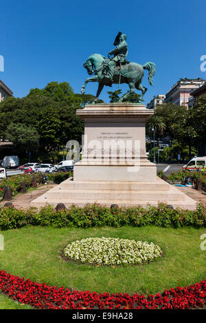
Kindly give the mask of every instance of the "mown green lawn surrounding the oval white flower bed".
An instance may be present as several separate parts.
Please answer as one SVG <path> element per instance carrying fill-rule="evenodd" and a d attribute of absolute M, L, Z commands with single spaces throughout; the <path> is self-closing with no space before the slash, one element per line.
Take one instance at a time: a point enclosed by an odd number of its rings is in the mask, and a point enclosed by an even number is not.
<path fill-rule="evenodd" d="M 162 292 L 176 286 L 186 286 L 206 278 L 206 251 L 200 248 L 200 236 L 205 229 L 165 229 L 162 227 L 121 227 L 89 229 L 55 229 L 24 227 L 1 232 L 5 250 L 0 251 L 0 268 L 47 285 L 78 290 L 110 293 Z M 125 267 L 93 267 L 63 260 L 60 250 L 67 243 L 86 238 L 119 237 L 153 242 L 161 247 L 163 258 L 149 265 Z M 14 307 L 12 307 L 14 304 Z M 22 308 L 0 294 L 0 309 Z"/>

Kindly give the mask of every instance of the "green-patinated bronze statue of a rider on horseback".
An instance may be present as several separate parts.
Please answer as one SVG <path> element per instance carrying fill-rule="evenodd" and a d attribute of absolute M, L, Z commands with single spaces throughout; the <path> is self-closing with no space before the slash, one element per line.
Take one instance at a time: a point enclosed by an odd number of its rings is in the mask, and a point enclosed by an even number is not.
<path fill-rule="evenodd" d="M 137 63 L 130 63 L 126 60 L 128 54 L 128 45 L 126 43 L 126 35 L 119 32 L 115 38 L 114 45 L 116 46 L 111 52 L 108 53 L 108 58 L 101 54 L 92 54 L 87 58 L 83 66 L 87 69 L 89 75 L 95 74 L 92 78 L 87 78 L 82 86 L 81 92 L 85 93 L 85 87 L 88 82 L 99 82 L 98 91 L 93 103 L 98 102 L 100 93 L 104 85 L 111 87 L 113 84 L 127 83 L 130 91 L 120 98 L 122 102 L 132 93 L 135 89 L 141 91 L 140 100 L 144 97 L 147 89 L 141 85 L 141 80 L 144 76 L 144 69 L 149 72 L 148 80 L 150 85 L 155 75 L 155 63 L 147 62 L 143 66 Z M 113 58 L 111 58 L 113 55 Z"/>

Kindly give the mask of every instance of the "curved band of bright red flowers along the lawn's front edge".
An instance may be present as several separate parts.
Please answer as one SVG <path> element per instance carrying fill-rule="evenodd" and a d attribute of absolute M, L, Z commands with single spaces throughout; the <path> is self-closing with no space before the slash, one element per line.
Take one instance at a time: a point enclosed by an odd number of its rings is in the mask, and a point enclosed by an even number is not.
<path fill-rule="evenodd" d="M 189 287 L 166 289 L 162 294 L 144 295 L 71 291 L 49 287 L 0 271 L 0 290 L 13 300 L 37 309 L 194 309 L 205 307 L 206 280 Z"/>

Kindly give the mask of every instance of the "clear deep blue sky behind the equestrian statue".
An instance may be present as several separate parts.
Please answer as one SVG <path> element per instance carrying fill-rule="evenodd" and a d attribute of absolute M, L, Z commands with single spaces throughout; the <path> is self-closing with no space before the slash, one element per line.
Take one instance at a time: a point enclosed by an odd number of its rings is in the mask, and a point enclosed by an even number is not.
<path fill-rule="evenodd" d="M 11 0 L 1 3 L 1 47 L 4 71 L 0 79 L 26 96 L 31 88 L 67 81 L 76 93 L 88 77 L 82 64 L 88 56 L 107 56 L 117 32 L 128 37 L 128 60 L 157 65 L 154 87 L 148 71 L 145 104 L 167 92 L 179 78 L 205 78 L 200 58 L 206 55 L 205 0 L 66 1 Z M 108 102 L 104 87 L 100 98 Z M 121 85 L 124 92 L 128 85 Z M 95 94 L 97 83 L 86 93 Z"/>

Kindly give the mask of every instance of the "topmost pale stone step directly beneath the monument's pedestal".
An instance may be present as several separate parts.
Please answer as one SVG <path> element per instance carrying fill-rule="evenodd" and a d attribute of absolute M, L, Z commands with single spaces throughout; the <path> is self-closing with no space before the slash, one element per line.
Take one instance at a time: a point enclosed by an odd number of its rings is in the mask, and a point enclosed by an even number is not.
<path fill-rule="evenodd" d="M 137 181 L 64 181 L 61 190 L 161 190 L 168 191 L 170 186 L 165 182 L 137 182 Z"/>

